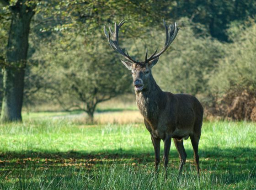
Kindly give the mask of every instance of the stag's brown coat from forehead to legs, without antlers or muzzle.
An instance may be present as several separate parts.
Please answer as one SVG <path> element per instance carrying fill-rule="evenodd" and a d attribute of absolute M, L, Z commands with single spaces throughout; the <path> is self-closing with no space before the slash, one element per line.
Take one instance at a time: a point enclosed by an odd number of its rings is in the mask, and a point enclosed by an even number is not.
<path fill-rule="evenodd" d="M 133 82 L 140 81 L 143 90 L 136 91 L 136 103 L 144 116 L 144 123 L 151 134 L 155 148 L 155 169 L 160 162 L 160 139 L 165 142 L 164 161 L 168 164 L 171 138 L 174 138 L 180 155 L 180 172 L 186 162 L 187 154 L 183 146 L 183 138 L 191 138 L 194 159 L 199 173 L 198 142 L 203 122 L 203 107 L 192 95 L 163 92 L 156 84 L 149 63 L 133 64 Z M 146 72 L 149 72 L 146 74 Z M 167 172 L 166 172 L 167 175 Z"/>

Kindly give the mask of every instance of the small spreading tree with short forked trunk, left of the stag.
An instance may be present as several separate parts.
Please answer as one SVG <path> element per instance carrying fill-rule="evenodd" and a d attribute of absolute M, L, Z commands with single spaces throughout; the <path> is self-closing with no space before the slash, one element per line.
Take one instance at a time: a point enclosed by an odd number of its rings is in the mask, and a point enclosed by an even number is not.
<path fill-rule="evenodd" d="M 54 96 L 64 109 L 85 111 L 93 122 L 97 104 L 127 92 L 131 80 L 118 57 L 105 48 L 108 44 L 94 43 L 94 49 L 80 42 L 74 45 L 55 57 Z"/>

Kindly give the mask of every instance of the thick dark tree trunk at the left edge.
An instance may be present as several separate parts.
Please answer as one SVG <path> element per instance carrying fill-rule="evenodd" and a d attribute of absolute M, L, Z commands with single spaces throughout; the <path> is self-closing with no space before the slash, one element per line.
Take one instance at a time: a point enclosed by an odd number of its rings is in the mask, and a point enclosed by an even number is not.
<path fill-rule="evenodd" d="M 16 5 L 11 7 L 12 19 L 6 51 L 8 66 L 3 68 L 1 122 L 21 121 L 29 25 L 34 15 L 33 8 L 27 7 L 24 0 L 18 0 Z"/>

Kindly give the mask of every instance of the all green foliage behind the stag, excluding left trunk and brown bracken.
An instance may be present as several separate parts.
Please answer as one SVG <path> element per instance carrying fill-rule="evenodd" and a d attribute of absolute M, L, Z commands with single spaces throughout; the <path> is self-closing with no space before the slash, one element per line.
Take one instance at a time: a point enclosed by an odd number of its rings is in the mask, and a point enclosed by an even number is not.
<path fill-rule="evenodd" d="M 0 1 L 0 60 L 6 59 L 11 9 L 17 2 Z M 102 31 L 104 24 L 113 26 L 122 19 L 128 22 L 120 31 L 120 45 L 139 60 L 146 46 L 149 52 L 162 47 L 161 20 L 177 21 L 178 36 L 153 69 L 163 90 L 212 96 L 230 88 L 255 89 L 255 20 L 248 21 L 256 13 L 253 0 L 30 0 L 26 5 L 33 7 L 35 16 L 30 26 L 25 105 L 54 96 L 65 108 L 87 110 L 85 102 L 95 105 L 96 96 L 105 100 L 113 97 L 111 93 L 129 90 L 131 77 Z M 95 91 L 97 95 L 89 98 Z"/>

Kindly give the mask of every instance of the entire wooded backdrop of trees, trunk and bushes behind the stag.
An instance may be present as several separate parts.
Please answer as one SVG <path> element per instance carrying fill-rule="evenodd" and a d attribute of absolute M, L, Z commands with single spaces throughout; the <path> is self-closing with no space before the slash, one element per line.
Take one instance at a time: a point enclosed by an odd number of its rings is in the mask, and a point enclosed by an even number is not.
<path fill-rule="evenodd" d="M 130 71 L 103 33 L 122 19 L 121 47 L 139 60 L 164 45 L 162 19 L 177 22 L 153 70 L 163 90 L 196 95 L 205 117 L 256 121 L 255 15 L 254 0 L 0 0 L 1 121 L 80 110 L 92 122 L 110 99 L 136 109 Z"/>

